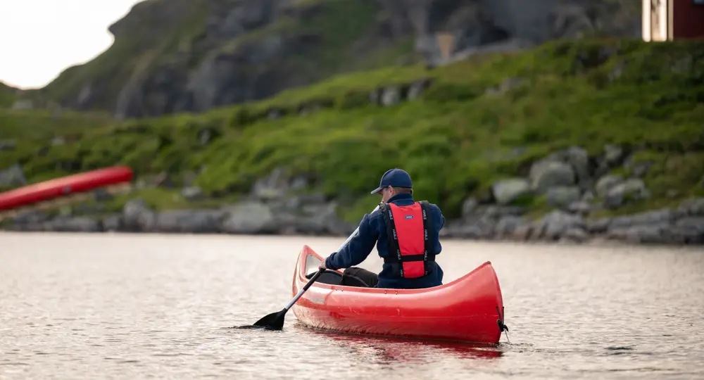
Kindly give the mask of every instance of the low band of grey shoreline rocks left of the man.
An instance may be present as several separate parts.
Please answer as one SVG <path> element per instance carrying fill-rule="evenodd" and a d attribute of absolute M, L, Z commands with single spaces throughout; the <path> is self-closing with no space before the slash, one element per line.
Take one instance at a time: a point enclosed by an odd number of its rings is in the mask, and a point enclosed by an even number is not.
<path fill-rule="evenodd" d="M 142 232 L 175 234 L 313 234 L 342 235 L 351 226 L 335 215 L 335 203 L 314 203 L 315 196 L 289 198 L 272 204 L 243 201 L 218 209 L 155 212 L 140 198 L 127 202 L 122 213 L 58 215 L 29 211 L 4 228 L 17 232 Z"/>

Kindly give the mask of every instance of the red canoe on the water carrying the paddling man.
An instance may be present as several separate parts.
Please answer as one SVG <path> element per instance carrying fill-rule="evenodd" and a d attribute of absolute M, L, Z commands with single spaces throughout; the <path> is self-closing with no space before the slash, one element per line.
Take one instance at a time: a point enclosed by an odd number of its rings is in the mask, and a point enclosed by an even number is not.
<path fill-rule="evenodd" d="M 294 295 L 308 282 L 306 271 L 314 272 L 320 262 L 320 255 L 303 247 L 294 272 Z M 429 289 L 334 285 L 340 278 L 341 271 L 322 274 L 293 305 L 296 318 L 313 329 L 349 334 L 472 343 L 498 343 L 501 338 L 503 299 L 491 262 Z"/>

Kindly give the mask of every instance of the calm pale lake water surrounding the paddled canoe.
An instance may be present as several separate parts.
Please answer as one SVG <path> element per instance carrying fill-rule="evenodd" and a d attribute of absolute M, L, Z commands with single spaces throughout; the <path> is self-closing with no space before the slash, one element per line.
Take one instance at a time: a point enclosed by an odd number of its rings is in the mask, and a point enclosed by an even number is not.
<path fill-rule="evenodd" d="M 702 249 L 445 241 L 445 281 L 494 264 L 496 347 L 315 332 L 292 311 L 282 331 L 228 328 L 283 308 L 303 244 L 342 241 L 0 233 L 0 379 L 704 378 Z"/>

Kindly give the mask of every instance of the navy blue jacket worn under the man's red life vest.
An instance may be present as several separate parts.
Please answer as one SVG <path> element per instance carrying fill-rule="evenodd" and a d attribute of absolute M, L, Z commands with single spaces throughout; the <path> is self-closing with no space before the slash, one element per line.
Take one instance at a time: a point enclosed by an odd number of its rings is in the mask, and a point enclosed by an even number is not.
<path fill-rule="evenodd" d="M 399 206 L 412 205 L 413 196 L 411 194 L 397 194 L 389 199 L 389 203 L 394 203 Z M 430 212 L 434 226 L 429 232 L 434 247 L 434 254 L 438 255 L 442 251 L 440 245 L 439 232 L 445 225 L 445 217 L 438 206 L 430 203 Z M 329 255 L 325 259 L 325 267 L 331 270 L 353 267 L 363 262 L 372 252 L 374 243 L 377 243 L 377 251 L 382 258 L 389 257 L 389 246 L 387 242 L 386 224 L 384 217 L 379 210 L 371 214 L 365 214 L 362 221 L 359 223 L 358 233 L 350 239 L 346 246 L 342 247 L 336 253 Z M 379 273 L 379 288 L 390 289 L 420 289 L 429 288 L 432 286 L 442 285 L 443 272 L 440 265 L 436 262 L 428 262 L 429 270 L 427 276 L 417 279 L 403 279 L 400 277 L 391 277 L 391 265 L 384 263 L 382 272 Z"/>

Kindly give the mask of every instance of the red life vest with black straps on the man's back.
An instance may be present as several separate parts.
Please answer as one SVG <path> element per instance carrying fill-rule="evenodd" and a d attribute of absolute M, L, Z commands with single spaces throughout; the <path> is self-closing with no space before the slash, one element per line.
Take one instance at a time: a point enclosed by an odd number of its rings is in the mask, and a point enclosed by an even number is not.
<path fill-rule="evenodd" d="M 416 279 L 429 273 L 428 262 L 435 260 L 429 240 L 431 214 L 427 201 L 399 206 L 379 203 L 386 224 L 389 257 L 394 276 Z"/>

